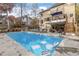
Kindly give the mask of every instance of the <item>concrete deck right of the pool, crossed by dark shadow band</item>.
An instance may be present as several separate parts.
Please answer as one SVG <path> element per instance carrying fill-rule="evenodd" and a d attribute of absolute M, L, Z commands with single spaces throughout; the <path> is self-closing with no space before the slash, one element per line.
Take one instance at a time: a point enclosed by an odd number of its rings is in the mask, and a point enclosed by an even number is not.
<path fill-rule="evenodd" d="M 56 56 L 79 56 L 79 41 L 64 39 L 56 50 Z"/>

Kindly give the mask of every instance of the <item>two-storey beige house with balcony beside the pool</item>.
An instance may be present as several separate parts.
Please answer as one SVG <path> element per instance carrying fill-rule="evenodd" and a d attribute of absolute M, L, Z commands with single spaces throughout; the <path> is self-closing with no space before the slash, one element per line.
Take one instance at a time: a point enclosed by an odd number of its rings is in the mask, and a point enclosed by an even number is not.
<path fill-rule="evenodd" d="M 40 12 L 40 29 L 46 31 L 56 30 L 65 33 L 77 33 L 78 23 L 76 19 L 75 3 L 58 3 L 53 7 Z"/>

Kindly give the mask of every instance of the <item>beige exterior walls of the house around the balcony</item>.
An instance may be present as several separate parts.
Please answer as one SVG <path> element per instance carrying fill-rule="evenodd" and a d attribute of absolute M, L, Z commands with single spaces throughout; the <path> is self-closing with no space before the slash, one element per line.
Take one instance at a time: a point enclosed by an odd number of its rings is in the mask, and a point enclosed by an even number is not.
<path fill-rule="evenodd" d="M 43 27 L 46 26 L 46 18 L 50 18 L 49 21 L 54 20 L 51 19 L 51 14 L 56 13 L 62 11 L 62 15 L 65 15 L 65 26 L 64 26 L 64 31 L 67 33 L 75 33 L 77 30 L 77 23 L 75 20 L 75 3 L 70 3 L 70 4 L 62 4 L 56 7 L 52 7 L 51 9 L 48 9 L 44 12 L 42 12 L 42 16 L 43 16 Z M 60 15 L 60 18 L 62 17 L 62 15 Z M 53 16 L 54 17 L 54 16 Z M 56 16 L 57 17 L 57 16 Z M 59 19 L 59 18 L 57 18 Z M 55 19 L 55 20 L 57 20 Z"/>

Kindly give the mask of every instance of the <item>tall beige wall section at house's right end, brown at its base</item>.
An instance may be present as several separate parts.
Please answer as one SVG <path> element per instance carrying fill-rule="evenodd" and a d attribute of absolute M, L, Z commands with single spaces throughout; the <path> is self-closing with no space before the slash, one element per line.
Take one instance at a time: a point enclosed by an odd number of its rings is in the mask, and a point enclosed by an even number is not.
<path fill-rule="evenodd" d="M 75 4 L 65 4 L 64 14 L 66 14 L 65 32 L 72 33 L 75 30 Z"/>

